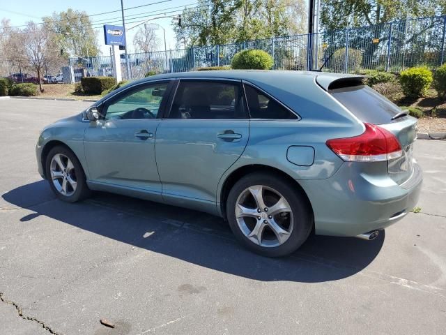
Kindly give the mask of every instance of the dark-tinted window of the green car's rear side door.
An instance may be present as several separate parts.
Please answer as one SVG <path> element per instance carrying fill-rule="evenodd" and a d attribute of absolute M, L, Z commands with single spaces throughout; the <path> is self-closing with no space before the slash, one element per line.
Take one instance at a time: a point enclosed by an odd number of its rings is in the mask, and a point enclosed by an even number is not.
<path fill-rule="evenodd" d="M 241 84 L 180 81 L 170 119 L 246 119 Z"/>

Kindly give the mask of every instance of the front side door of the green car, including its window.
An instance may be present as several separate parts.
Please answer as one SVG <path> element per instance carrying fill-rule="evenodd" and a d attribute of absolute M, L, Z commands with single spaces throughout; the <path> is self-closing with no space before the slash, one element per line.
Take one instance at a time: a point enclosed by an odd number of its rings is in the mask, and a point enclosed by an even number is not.
<path fill-rule="evenodd" d="M 101 106 L 84 135 L 89 182 L 161 194 L 155 137 L 169 82 L 130 87 Z"/>

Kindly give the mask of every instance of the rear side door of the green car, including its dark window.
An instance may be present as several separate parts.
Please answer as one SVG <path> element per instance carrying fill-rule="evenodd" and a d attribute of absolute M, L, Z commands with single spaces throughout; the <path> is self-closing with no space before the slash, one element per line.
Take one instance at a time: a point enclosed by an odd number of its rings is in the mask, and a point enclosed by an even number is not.
<path fill-rule="evenodd" d="M 156 161 L 164 200 L 215 203 L 222 174 L 249 137 L 240 80 L 180 80 L 157 129 Z"/>

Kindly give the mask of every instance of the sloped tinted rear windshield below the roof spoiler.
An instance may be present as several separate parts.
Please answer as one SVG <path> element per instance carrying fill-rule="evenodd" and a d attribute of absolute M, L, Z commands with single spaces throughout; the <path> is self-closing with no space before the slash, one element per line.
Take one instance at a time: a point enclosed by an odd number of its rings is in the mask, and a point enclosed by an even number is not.
<path fill-rule="evenodd" d="M 330 94 L 362 122 L 390 124 L 403 119 L 401 117 L 392 121 L 392 117 L 401 112 L 401 109 L 368 86 L 358 85 L 332 89 Z"/>

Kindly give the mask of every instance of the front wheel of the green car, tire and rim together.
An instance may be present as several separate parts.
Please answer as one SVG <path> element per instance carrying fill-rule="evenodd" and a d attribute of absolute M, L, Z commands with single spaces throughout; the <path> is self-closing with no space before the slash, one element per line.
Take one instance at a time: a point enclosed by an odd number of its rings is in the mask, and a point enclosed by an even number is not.
<path fill-rule="evenodd" d="M 49 187 L 60 200 L 77 202 L 88 198 L 91 194 L 86 185 L 82 165 L 76 155 L 66 147 L 58 146 L 49 151 L 45 172 Z"/>

